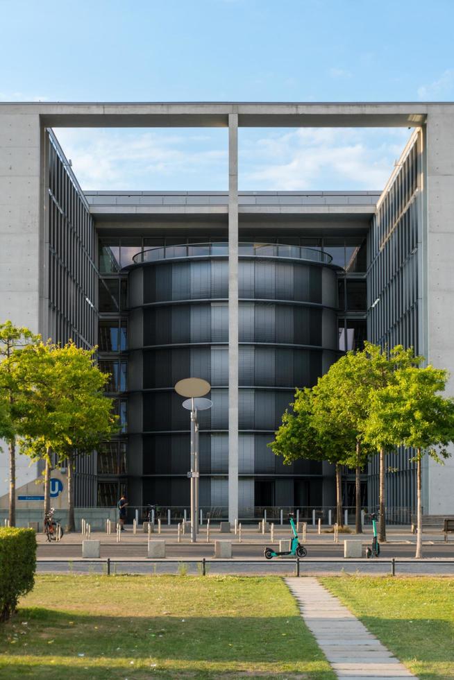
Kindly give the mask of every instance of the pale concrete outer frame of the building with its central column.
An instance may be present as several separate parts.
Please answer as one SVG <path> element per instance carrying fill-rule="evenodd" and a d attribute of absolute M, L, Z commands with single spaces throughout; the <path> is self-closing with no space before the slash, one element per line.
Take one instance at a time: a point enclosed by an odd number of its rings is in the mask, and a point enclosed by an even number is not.
<path fill-rule="evenodd" d="M 454 104 L 453 103 L 0 103 L 0 318 L 44 328 L 46 186 L 44 128 L 228 127 L 230 241 L 229 427 L 237 431 L 237 128 L 421 127 L 423 253 L 426 289 L 423 353 L 454 375 Z M 454 395 L 454 378 L 448 386 Z M 236 443 L 235 443 L 236 442 Z M 237 516 L 237 439 L 230 441 L 230 521 Z M 451 508 L 454 462 L 428 461 L 429 513 Z"/>

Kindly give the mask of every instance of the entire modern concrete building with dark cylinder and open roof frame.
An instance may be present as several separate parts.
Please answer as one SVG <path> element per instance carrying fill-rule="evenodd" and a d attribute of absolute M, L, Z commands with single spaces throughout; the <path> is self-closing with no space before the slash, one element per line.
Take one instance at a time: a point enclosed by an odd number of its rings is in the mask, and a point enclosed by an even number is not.
<path fill-rule="evenodd" d="M 84 193 L 57 126 L 226 126 L 228 192 Z M 414 131 L 382 191 L 238 192 L 239 126 Z M 196 375 L 213 402 L 202 507 L 233 520 L 332 506 L 328 464 L 287 468 L 267 442 L 295 386 L 365 338 L 454 372 L 453 197 L 450 103 L 0 103 L 0 319 L 98 343 L 121 420 L 81 463 L 78 504 L 126 488 L 131 505 L 187 507 L 189 418 L 173 386 Z M 425 512 L 451 512 L 454 459 L 424 464 Z M 411 509 L 412 465 L 399 454 L 393 467 L 389 507 Z M 18 486 L 38 472 L 21 466 Z M 6 474 L 3 457 L 0 496 Z M 344 489 L 353 504 L 348 473 Z M 364 503 L 377 491 L 371 465 Z"/>

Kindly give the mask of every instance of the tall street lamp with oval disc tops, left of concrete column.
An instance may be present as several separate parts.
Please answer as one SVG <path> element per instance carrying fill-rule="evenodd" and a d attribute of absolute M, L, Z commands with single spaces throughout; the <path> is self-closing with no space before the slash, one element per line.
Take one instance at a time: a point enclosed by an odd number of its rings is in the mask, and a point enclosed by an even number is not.
<path fill-rule="evenodd" d="M 191 480 L 191 541 L 197 540 L 198 505 L 199 505 L 199 424 L 197 423 L 197 409 L 209 409 L 212 405 L 209 399 L 201 399 L 211 389 L 206 380 L 198 377 L 188 377 L 179 380 L 175 385 L 175 391 L 189 399 L 183 402 L 183 407 L 191 411 L 191 470 L 187 476 Z"/>

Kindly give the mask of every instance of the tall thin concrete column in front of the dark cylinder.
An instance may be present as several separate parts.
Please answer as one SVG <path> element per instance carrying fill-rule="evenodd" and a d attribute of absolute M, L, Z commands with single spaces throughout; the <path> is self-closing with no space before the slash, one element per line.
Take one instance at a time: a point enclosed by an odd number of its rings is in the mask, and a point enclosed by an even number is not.
<path fill-rule="evenodd" d="M 228 116 L 228 520 L 238 518 L 238 114 Z"/>

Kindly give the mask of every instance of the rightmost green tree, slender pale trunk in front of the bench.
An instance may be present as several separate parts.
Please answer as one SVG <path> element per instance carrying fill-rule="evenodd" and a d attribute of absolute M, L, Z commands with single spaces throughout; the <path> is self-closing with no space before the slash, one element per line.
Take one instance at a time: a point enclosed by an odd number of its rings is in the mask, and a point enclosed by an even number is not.
<path fill-rule="evenodd" d="M 442 368 L 403 368 L 394 373 L 392 384 L 373 396 L 369 431 L 385 430 L 394 445 L 416 450 L 417 558 L 422 557 L 421 459 L 428 454 L 443 463 L 454 441 L 454 400 L 440 394 L 447 380 Z"/>

